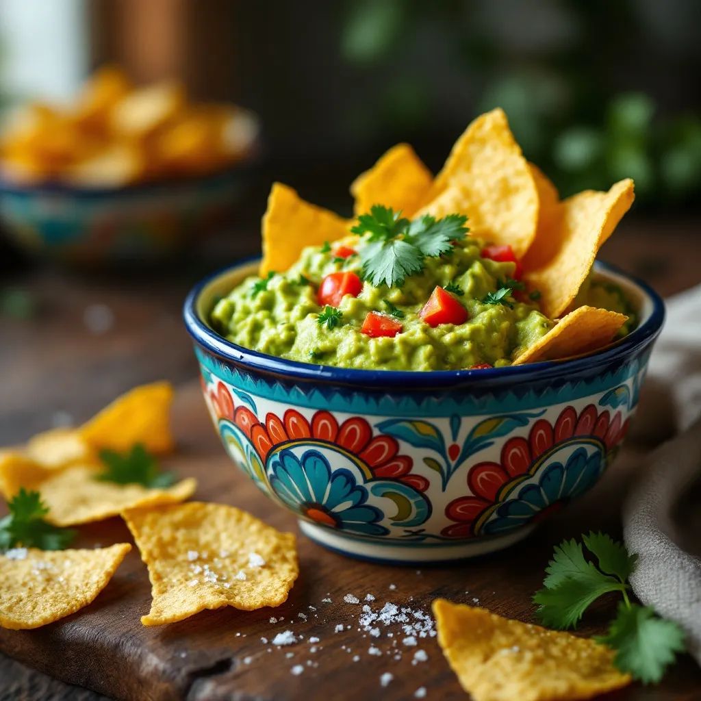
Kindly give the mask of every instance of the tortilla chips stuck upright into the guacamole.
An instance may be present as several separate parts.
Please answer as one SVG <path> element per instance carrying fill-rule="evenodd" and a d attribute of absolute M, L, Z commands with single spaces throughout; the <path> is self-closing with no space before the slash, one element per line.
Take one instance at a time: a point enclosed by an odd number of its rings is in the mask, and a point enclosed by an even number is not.
<path fill-rule="evenodd" d="M 468 216 L 473 236 L 510 245 L 524 282 L 540 292 L 540 309 L 559 322 L 514 365 L 568 358 L 606 345 L 625 315 L 571 305 L 606 242 L 633 203 L 630 179 L 608 192 L 583 191 L 560 200 L 555 186 L 524 158 L 504 112 L 479 116 L 458 139 L 441 172 L 432 177 L 407 144 L 384 154 L 351 185 L 355 215 L 373 204 L 423 214 Z M 307 245 L 348 236 L 351 222 L 274 184 L 263 218 L 261 274 L 283 272 Z M 568 313 L 569 312 L 569 313 Z"/>

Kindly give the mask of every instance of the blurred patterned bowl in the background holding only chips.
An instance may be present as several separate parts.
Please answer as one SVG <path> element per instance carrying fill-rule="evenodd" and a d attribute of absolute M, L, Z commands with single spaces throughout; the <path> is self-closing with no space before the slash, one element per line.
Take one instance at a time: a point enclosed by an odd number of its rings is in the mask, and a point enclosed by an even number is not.
<path fill-rule="evenodd" d="M 88 265 L 153 261 L 220 224 L 243 172 L 109 189 L 0 182 L 0 220 L 32 254 Z"/>

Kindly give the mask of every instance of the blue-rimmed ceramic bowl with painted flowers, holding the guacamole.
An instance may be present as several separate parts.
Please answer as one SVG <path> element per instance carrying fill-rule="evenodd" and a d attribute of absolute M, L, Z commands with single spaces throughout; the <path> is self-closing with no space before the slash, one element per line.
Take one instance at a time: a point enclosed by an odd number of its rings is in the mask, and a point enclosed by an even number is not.
<path fill-rule="evenodd" d="M 665 315 L 647 285 L 597 264 L 639 314 L 603 351 L 477 371 L 339 369 L 250 351 L 207 325 L 217 295 L 256 269 L 214 275 L 184 306 L 224 448 L 307 536 L 383 562 L 498 550 L 585 494 L 625 436 Z"/>

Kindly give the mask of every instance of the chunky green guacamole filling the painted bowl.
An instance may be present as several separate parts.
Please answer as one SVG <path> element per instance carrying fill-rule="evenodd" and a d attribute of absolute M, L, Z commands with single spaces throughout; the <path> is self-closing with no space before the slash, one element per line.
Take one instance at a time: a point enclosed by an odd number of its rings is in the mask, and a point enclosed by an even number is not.
<path fill-rule="evenodd" d="M 510 365 L 520 349 L 554 326 L 538 309 L 538 292 L 513 280 L 517 264 L 484 257 L 484 243 L 477 238 L 468 236 L 448 254 L 427 258 L 423 270 L 401 287 L 362 280 L 359 252 L 364 245 L 372 244 L 350 236 L 306 247 L 285 273 L 247 278 L 217 302 L 212 327 L 240 346 L 280 358 L 426 371 Z M 356 287 L 348 287 L 335 304 L 322 304 L 319 290 L 325 278 L 336 273 L 332 278 L 341 279 L 345 272 L 352 273 L 347 277 L 356 280 Z M 463 308 L 465 320 L 427 320 L 422 310 L 436 287 Z M 590 281 L 586 288 L 597 306 L 615 308 L 625 301 L 599 283 Z M 376 322 L 371 328 L 368 315 Z M 374 333 L 377 323 L 380 335 Z M 387 335 L 384 327 L 389 327 Z"/>

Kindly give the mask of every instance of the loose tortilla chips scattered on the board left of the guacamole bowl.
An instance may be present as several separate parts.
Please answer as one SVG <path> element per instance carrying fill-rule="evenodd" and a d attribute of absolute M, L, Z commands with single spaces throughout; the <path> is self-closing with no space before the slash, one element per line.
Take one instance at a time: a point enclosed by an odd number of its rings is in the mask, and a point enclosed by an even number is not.
<path fill-rule="evenodd" d="M 38 491 L 55 526 L 121 515 L 149 566 L 154 603 L 144 625 L 187 618 L 205 608 L 249 611 L 279 606 L 299 573 L 294 536 L 236 508 L 185 501 L 194 479 L 168 488 L 96 479 L 99 451 L 172 450 L 172 387 L 154 383 L 115 400 L 79 428 L 55 429 L 0 453 L 0 493 Z M 131 546 L 0 554 L 0 627 L 36 628 L 88 606 L 107 586 Z"/>

